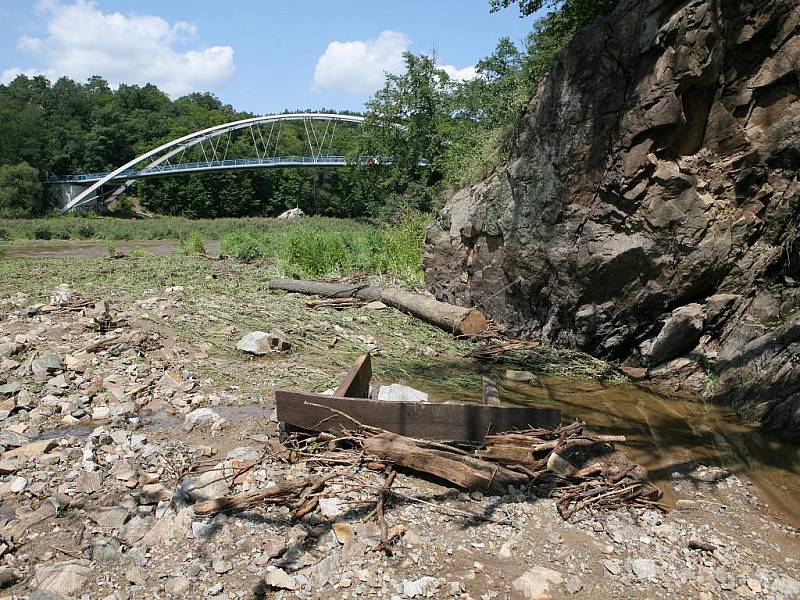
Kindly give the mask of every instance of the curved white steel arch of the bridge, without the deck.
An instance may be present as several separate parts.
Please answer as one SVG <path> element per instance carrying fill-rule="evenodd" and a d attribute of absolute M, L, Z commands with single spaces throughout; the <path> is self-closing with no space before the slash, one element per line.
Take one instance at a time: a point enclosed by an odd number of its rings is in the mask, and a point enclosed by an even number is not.
<path fill-rule="evenodd" d="M 157 148 L 153 148 L 152 150 L 149 150 L 148 152 L 145 152 L 144 154 L 137 156 L 133 160 L 128 161 L 121 167 L 118 167 L 117 169 L 111 171 L 110 173 L 99 179 L 97 182 L 93 183 L 91 186 L 83 190 L 80 194 L 75 196 L 75 198 L 70 200 L 61 209 L 61 212 L 66 213 L 85 204 L 89 204 L 90 202 L 94 202 L 97 199 L 96 192 L 100 190 L 104 185 L 110 183 L 114 179 L 124 178 L 125 171 L 152 157 L 156 158 L 151 160 L 150 163 L 146 167 L 144 167 L 141 171 L 146 171 L 148 168 L 155 167 L 164 161 L 168 161 L 170 158 L 179 154 L 180 152 L 184 152 L 185 150 L 187 150 L 192 146 L 200 144 L 206 140 L 219 137 L 220 135 L 223 135 L 225 133 L 233 132 L 238 129 L 244 129 L 246 127 L 252 127 L 253 125 L 262 125 L 264 123 L 277 123 L 283 121 L 303 121 L 304 123 L 307 123 L 308 121 L 334 121 L 334 122 L 361 124 L 364 122 L 364 117 L 359 117 L 356 115 L 340 115 L 334 113 L 284 113 L 280 115 L 266 115 L 262 117 L 251 117 L 249 119 L 241 119 L 239 121 L 231 121 L 230 123 L 223 123 L 222 125 L 215 125 L 214 127 L 209 127 L 207 129 L 195 131 L 194 133 L 187 134 L 183 137 L 162 144 Z M 306 133 L 308 135 L 308 132 Z M 311 145 L 310 136 L 309 136 L 309 145 Z M 322 145 L 324 145 L 324 141 L 323 143 L 320 144 L 320 148 L 322 147 Z M 257 150 L 257 144 L 256 144 L 256 150 Z M 311 150 L 313 153 L 314 149 L 311 148 Z M 159 154 L 165 151 L 167 151 L 165 154 L 158 156 Z M 216 149 L 214 149 L 214 152 L 216 152 Z M 124 192 L 131 185 L 133 185 L 134 182 L 135 182 L 134 179 L 129 179 L 124 183 L 122 183 L 116 190 L 114 190 L 110 194 L 110 196 L 105 202 L 111 202 L 112 200 L 114 200 L 122 192 Z"/>

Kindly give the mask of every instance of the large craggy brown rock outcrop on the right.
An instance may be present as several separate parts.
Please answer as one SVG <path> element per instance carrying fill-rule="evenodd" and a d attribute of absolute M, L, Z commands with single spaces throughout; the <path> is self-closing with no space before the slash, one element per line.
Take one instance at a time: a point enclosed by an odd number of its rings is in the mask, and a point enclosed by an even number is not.
<path fill-rule="evenodd" d="M 431 225 L 429 288 L 800 435 L 798 99 L 794 0 L 623 0 Z"/>

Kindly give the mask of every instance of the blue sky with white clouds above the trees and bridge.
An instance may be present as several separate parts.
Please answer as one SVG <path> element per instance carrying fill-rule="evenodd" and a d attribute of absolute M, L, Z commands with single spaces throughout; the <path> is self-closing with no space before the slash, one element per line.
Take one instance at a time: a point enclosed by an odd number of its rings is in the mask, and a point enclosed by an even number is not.
<path fill-rule="evenodd" d="M 488 0 L 3 0 L 0 75 L 211 91 L 258 114 L 362 108 L 403 50 L 435 49 L 456 78 L 533 18 Z"/>

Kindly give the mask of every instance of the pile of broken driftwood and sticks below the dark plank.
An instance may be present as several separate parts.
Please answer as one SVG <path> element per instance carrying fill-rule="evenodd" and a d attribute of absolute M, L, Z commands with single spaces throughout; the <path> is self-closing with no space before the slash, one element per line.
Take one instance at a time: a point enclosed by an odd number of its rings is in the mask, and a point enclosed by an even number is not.
<path fill-rule="evenodd" d="M 211 515 L 282 504 L 295 518 L 301 518 L 315 510 L 320 498 L 335 495 L 326 492 L 326 484 L 336 480 L 363 489 L 369 486 L 358 478 L 359 473 L 364 469 L 383 472 L 384 484 L 372 486 L 376 499 L 369 516 L 377 517 L 384 533 L 376 548 L 386 550 L 392 535 L 383 514 L 392 496 L 415 500 L 391 489 L 398 469 L 490 494 L 507 494 L 509 486 L 528 488 L 537 497 L 555 498 L 565 519 L 579 512 L 621 506 L 660 507 L 660 490 L 646 481 L 644 469 L 614 449 L 615 441 L 624 438 L 590 435 L 583 423 L 573 423 L 555 429 L 490 435 L 480 447 L 455 446 L 354 423 L 352 431 L 338 435 L 295 433 L 283 443 L 272 441 L 268 445 L 265 457 L 325 467 L 325 475 L 297 477 L 264 490 L 208 500 L 196 504 L 194 511 Z M 442 510 L 452 511 L 444 506 Z"/>

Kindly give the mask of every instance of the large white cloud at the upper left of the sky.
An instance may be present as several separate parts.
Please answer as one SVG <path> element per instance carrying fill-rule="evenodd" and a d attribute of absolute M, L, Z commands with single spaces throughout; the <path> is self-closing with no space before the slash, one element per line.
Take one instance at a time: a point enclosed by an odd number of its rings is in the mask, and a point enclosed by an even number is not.
<path fill-rule="evenodd" d="M 37 8 L 47 16 L 47 34 L 23 36 L 17 46 L 41 56 L 43 64 L 6 69 L 3 81 L 18 73 L 77 80 L 101 75 L 112 86 L 154 83 L 179 96 L 219 86 L 231 79 L 236 68 L 230 46 L 183 52 L 173 47 L 196 36 L 192 23 L 170 25 L 158 16 L 103 13 L 93 0 L 72 4 L 43 0 Z"/>

